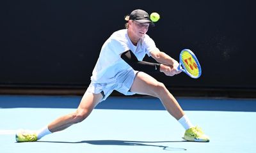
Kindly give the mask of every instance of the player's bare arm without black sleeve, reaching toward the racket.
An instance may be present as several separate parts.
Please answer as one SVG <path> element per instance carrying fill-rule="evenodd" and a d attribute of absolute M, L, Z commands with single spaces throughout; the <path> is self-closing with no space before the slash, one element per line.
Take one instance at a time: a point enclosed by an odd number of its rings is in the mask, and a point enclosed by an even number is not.
<path fill-rule="evenodd" d="M 177 71 L 179 62 L 177 62 L 175 59 L 170 57 L 170 55 L 167 55 L 164 52 L 161 52 L 159 49 L 150 51 L 150 55 L 157 62 L 171 66 L 172 67 L 171 71 L 175 72 L 175 74 L 179 74 L 181 72 L 181 71 Z"/>

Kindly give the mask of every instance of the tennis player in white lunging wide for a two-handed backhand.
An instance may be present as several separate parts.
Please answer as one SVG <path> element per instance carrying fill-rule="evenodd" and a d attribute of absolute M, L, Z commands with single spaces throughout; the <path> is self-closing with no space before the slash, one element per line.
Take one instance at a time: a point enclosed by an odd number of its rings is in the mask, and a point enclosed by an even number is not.
<path fill-rule="evenodd" d="M 146 34 L 152 21 L 148 13 L 134 10 L 127 18 L 126 29 L 116 31 L 102 46 L 99 59 L 93 69 L 91 84 L 86 90 L 76 112 L 64 115 L 38 131 L 19 131 L 17 142 L 33 142 L 45 135 L 61 131 L 90 115 L 93 108 L 116 90 L 125 95 L 145 94 L 159 98 L 166 110 L 184 127 L 184 139 L 209 142 L 208 136 L 191 124 L 179 103 L 164 84 L 150 77 L 147 72 L 163 72 L 167 76 L 180 73 L 179 63 L 159 51 Z M 145 55 L 158 63 L 142 61 Z"/>

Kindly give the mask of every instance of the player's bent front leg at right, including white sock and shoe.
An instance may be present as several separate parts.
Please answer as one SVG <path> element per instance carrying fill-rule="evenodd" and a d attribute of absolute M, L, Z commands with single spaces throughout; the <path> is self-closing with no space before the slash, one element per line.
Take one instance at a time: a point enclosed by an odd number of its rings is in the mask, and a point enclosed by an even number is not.
<path fill-rule="evenodd" d="M 186 129 L 184 139 L 196 142 L 209 142 L 209 138 L 204 135 L 200 128 L 194 127 L 186 117 L 177 100 L 166 89 L 165 85 L 158 82 L 147 73 L 139 72 L 134 78 L 131 92 L 145 94 L 159 98 L 166 110 Z"/>

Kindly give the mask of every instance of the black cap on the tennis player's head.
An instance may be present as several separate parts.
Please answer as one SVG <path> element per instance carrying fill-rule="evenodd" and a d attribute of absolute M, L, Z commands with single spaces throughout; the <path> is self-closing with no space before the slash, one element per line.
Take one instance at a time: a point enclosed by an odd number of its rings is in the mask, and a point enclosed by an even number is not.
<path fill-rule="evenodd" d="M 152 20 L 150 20 L 150 17 L 147 13 L 147 11 L 144 10 L 134 10 L 131 12 L 129 15 L 129 20 L 136 20 L 137 22 L 140 23 L 147 23 L 150 22 L 151 24 L 153 23 Z"/>

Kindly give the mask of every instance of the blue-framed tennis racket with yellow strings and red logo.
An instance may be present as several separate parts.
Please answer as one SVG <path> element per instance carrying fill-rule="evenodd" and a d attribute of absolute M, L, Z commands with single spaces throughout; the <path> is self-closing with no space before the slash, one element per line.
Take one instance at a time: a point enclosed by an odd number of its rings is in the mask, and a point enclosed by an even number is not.
<path fill-rule="evenodd" d="M 180 52 L 180 64 L 177 71 L 183 71 L 191 78 L 199 78 L 202 69 L 196 58 L 196 55 L 189 49 L 184 49 Z"/>

